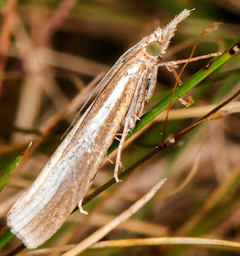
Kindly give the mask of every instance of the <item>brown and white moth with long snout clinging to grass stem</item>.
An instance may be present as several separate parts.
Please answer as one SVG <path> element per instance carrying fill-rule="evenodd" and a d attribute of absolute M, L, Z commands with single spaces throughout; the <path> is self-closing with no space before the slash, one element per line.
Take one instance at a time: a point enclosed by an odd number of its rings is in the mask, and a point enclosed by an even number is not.
<path fill-rule="evenodd" d="M 126 51 L 99 82 L 102 91 L 58 146 L 36 181 L 7 215 L 7 225 L 26 247 L 35 249 L 59 229 L 81 202 L 115 134 L 123 126 L 114 176 L 118 178 L 122 144 L 153 94 L 162 56 L 178 23 L 190 15 L 183 10 L 166 27 Z M 167 67 L 166 67 L 167 68 Z M 170 68 L 170 67 L 169 67 Z"/>

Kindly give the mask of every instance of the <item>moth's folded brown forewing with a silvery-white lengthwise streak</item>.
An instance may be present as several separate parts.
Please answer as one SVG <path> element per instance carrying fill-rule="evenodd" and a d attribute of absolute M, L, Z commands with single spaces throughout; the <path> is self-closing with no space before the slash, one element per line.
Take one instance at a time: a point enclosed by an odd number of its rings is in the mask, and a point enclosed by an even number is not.
<path fill-rule="evenodd" d="M 48 240 L 88 191 L 129 109 L 143 65 L 136 59 L 121 61 L 90 111 L 10 210 L 7 224 L 28 248 Z"/>

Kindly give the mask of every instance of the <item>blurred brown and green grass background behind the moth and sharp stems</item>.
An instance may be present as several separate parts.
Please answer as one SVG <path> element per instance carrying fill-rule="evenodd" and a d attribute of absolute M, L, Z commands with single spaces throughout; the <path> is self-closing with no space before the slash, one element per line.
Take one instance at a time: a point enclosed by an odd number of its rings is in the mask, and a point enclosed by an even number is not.
<path fill-rule="evenodd" d="M 203 29 L 214 22 L 223 24 L 203 37 L 194 56 L 230 48 L 240 37 L 240 1 L 235 0 L 1 0 L 0 7 L 0 176 L 30 141 L 39 142 L 31 157 L 27 157 L 26 163 L 16 170 L 0 194 L 1 233 L 7 229 L 7 211 L 36 179 L 60 143 L 61 135 L 88 99 L 92 91 L 89 82 L 110 69 L 128 48 L 151 34 L 156 27 L 166 26 L 184 8 L 195 9 L 179 25 L 164 60 L 187 59 Z M 204 59 L 189 64 L 182 80 L 189 79 L 209 61 Z M 224 101 L 239 89 L 239 68 L 240 59 L 236 56 L 190 91 L 195 101 L 190 108 L 175 103 L 172 109 L 181 108 L 183 112 L 169 121 L 167 134 L 178 133 L 203 116 L 205 112 L 201 107 L 209 106 L 210 111 L 212 104 Z M 161 101 L 166 91 L 171 91 L 174 82 L 171 73 L 159 69 L 157 88 L 146 110 Z M 64 110 L 78 93 L 81 93 L 78 103 L 68 109 L 64 119 L 49 131 L 53 117 Z M 197 111 L 193 114 L 194 110 Z M 239 111 L 238 104 L 235 113 L 203 123 L 181 142 L 155 155 L 123 183 L 111 188 L 114 189 L 111 193 L 105 191 L 90 201 L 85 206 L 89 216 L 79 212 L 72 214 L 45 247 L 82 240 L 120 214 L 162 177 L 169 178 L 162 188 L 162 196 L 155 197 L 104 240 L 192 236 L 239 241 Z M 130 166 L 156 144 L 161 144 L 163 118 L 151 122 L 148 129 L 124 149 L 124 166 Z M 189 173 L 194 173 L 194 176 L 183 189 L 172 197 L 164 197 L 179 187 Z M 112 175 L 113 165 L 104 163 L 93 188 L 100 187 Z M 15 250 L 19 244 L 21 241 L 16 238 L 9 241 L 2 255 Z M 236 255 L 237 252 L 196 246 L 85 252 L 86 255 L 122 253 Z"/>

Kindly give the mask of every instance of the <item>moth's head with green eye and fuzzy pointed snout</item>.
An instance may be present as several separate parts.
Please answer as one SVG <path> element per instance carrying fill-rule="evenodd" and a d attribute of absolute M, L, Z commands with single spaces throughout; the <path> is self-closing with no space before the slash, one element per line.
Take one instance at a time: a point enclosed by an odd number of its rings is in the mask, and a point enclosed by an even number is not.
<path fill-rule="evenodd" d="M 145 47 L 146 53 L 150 57 L 162 56 L 166 49 L 168 48 L 172 37 L 174 36 L 174 31 L 177 25 L 183 21 L 187 16 L 190 15 L 189 10 L 184 9 L 182 13 L 169 23 L 166 27 L 158 27 L 148 38 L 147 45 Z"/>

